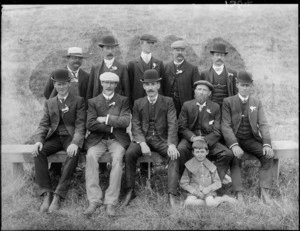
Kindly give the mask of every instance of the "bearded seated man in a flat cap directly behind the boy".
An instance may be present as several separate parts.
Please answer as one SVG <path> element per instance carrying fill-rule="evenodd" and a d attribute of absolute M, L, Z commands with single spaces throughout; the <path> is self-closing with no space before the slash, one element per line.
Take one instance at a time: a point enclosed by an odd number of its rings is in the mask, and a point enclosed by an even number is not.
<path fill-rule="evenodd" d="M 197 140 L 204 140 L 208 144 L 207 158 L 215 160 L 217 172 L 221 182 L 229 169 L 233 158 L 232 152 L 219 143 L 221 139 L 220 106 L 208 100 L 213 85 L 206 80 L 199 80 L 195 85 L 195 99 L 183 104 L 179 115 L 179 134 L 183 137 L 178 144 L 180 156 L 176 159 L 172 176 L 176 182 L 184 171 L 185 163 L 193 157 L 192 144 Z"/>

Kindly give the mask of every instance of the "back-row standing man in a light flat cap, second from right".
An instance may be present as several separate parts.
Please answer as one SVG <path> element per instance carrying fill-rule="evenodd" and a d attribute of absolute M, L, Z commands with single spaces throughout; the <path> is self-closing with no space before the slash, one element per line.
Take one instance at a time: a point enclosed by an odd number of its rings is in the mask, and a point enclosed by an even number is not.
<path fill-rule="evenodd" d="M 194 82 L 200 79 L 198 68 L 185 60 L 187 44 L 183 40 L 172 43 L 174 60 L 165 66 L 164 90 L 173 98 L 177 117 L 184 102 L 192 100 Z"/>

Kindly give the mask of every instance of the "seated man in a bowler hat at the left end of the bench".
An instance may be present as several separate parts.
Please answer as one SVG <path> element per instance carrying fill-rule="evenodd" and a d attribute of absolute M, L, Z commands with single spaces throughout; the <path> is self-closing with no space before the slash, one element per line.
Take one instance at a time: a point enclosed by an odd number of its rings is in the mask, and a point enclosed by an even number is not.
<path fill-rule="evenodd" d="M 86 120 L 84 99 L 69 92 L 71 77 L 68 70 L 55 70 L 51 76 L 58 94 L 45 102 L 44 115 L 36 131 L 37 142 L 32 151 L 35 179 L 40 195 L 44 195 L 40 211 L 47 212 L 49 209 L 50 213 L 58 210 L 60 200 L 66 197 L 79 149 L 83 145 Z M 53 199 L 47 157 L 62 149 L 67 152 L 67 158 Z"/>

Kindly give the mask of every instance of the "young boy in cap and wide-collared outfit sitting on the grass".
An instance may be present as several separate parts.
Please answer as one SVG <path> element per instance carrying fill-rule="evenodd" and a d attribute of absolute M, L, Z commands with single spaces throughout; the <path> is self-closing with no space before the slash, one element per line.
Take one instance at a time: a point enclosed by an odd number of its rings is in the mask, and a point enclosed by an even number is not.
<path fill-rule="evenodd" d="M 217 167 L 206 159 L 207 143 L 197 140 L 193 143 L 194 157 L 185 163 L 185 170 L 180 179 L 180 187 L 189 192 L 184 206 L 207 205 L 216 207 L 222 202 L 237 202 L 236 199 L 224 195 L 217 196 L 216 190 L 222 187 Z"/>

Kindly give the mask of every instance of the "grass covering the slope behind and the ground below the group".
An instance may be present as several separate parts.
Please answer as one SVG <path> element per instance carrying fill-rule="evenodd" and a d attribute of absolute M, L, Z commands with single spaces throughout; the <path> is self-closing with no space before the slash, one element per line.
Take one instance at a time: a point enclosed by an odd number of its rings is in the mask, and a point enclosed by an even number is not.
<path fill-rule="evenodd" d="M 172 58 L 171 42 L 183 38 L 191 45 L 186 58 L 199 70 L 210 65 L 212 42 L 226 43 L 227 65 L 253 73 L 255 94 L 264 105 L 272 140 L 299 140 L 297 5 L 4 6 L 1 19 L 3 144 L 30 140 L 42 116 L 45 80 L 53 69 L 65 65 L 61 56 L 67 48 L 80 46 L 90 55 L 82 66 L 89 72 L 102 58 L 97 42 L 105 33 L 119 40 L 117 59 L 123 63 L 140 53 L 138 38 L 144 33 L 158 37 L 153 54 L 164 62 Z M 257 198 L 258 163 L 247 162 L 243 171 L 246 206 L 171 210 L 161 172 L 153 178 L 153 193 L 137 182 L 138 198 L 119 209 L 116 218 L 107 217 L 101 209 L 86 219 L 82 216 L 88 204 L 82 174 L 75 174 L 60 213 L 45 215 L 37 211 L 41 199 L 32 166 L 26 166 L 23 178 L 12 179 L 9 166 L 2 163 L 1 228 L 298 230 L 298 169 L 298 161 L 282 162 L 272 206 Z M 106 187 L 107 177 L 101 180 Z M 230 188 L 225 190 L 231 193 Z"/>

